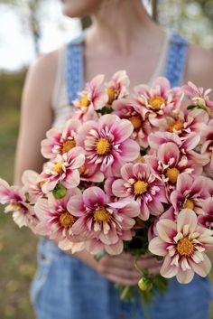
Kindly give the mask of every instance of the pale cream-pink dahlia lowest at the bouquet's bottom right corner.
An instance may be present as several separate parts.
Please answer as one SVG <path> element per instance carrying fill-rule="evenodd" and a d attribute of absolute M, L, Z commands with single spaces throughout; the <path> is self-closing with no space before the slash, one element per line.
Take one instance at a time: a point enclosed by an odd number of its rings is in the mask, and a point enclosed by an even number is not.
<path fill-rule="evenodd" d="M 213 231 L 198 224 L 194 211 L 185 209 L 177 216 L 177 222 L 159 220 L 156 229 L 158 236 L 150 241 L 150 251 L 164 257 L 161 275 L 176 276 L 182 284 L 189 283 L 194 273 L 206 277 L 211 262 L 206 255 L 213 245 Z"/>

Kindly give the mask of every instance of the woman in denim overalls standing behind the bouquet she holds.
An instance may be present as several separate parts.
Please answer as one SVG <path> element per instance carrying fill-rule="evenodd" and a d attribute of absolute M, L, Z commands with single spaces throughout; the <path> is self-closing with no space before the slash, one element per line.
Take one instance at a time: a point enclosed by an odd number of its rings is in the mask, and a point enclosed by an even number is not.
<path fill-rule="evenodd" d="M 213 86 L 212 52 L 163 31 L 148 17 L 141 0 L 62 0 L 62 7 L 69 17 L 90 14 L 93 23 L 79 39 L 42 56 L 29 70 L 15 183 L 21 183 L 25 169 L 42 170 L 45 132 L 63 123 L 70 111 L 67 105 L 83 82 L 99 73 L 107 81 L 116 70 L 126 70 L 132 88 L 159 75 L 169 77 L 172 86 L 188 80 L 204 88 Z M 114 283 L 134 286 L 140 277 L 129 254 L 104 256 L 97 262 L 85 251 L 71 256 L 44 239 L 39 263 L 32 283 L 38 319 L 144 318 L 139 296 L 135 294 L 134 303 L 123 303 L 114 287 Z M 150 255 L 139 263 L 153 274 L 161 268 Z M 209 295 L 207 279 L 195 277 L 187 286 L 173 280 L 164 298 L 156 295 L 150 314 L 153 319 L 207 319 Z"/>

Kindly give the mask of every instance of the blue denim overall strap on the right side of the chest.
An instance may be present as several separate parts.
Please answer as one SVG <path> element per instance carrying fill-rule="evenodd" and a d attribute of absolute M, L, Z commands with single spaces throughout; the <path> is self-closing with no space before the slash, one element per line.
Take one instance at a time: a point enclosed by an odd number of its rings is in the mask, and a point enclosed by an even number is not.
<path fill-rule="evenodd" d="M 180 87 L 188 53 L 188 42 L 177 33 L 173 33 L 165 65 L 165 77 L 171 87 Z"/>

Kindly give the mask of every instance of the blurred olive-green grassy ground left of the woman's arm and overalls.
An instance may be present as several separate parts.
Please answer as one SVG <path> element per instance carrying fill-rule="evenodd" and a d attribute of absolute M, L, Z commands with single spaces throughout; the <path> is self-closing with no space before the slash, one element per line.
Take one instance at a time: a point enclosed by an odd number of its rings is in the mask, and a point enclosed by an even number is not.
<path fill-rule="evenodd" d="M 12 183 L 20 100 L 25 71 L 0 75 L 0 176 Z M 29 285 L 35 273 L 36 241 L 30 230 L 20 230 L 0 208 L 0 318 L 33 319 Z"/>

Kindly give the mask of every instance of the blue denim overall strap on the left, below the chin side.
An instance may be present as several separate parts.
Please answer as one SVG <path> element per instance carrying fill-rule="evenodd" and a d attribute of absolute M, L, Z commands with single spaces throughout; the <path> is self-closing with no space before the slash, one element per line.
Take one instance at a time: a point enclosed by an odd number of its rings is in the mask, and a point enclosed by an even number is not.
<path fill-rule="evenodd" d="M 69 42 L 65 55 L 65 80 L 69 103 L 78 98 L 78 92 L 83 89 L 83 41 L 82 33 L 77 39 Z"/>

